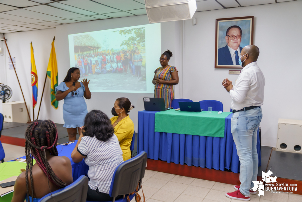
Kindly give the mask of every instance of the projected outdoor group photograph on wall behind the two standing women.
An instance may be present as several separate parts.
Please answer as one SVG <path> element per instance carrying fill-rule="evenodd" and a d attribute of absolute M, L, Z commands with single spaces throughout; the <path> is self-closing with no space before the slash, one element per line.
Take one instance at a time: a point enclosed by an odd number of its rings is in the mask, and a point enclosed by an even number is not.
<path fill-rule="evenodd" d="M 160 25 L 157 28 L 157 40 L 146 38 L 146 28 L 149 25 L 102 30 L 69 35 L 72 60 L 70 67 L 77 67 L 81 71 L 81 78 L 90 80 L 89 89 L 93 92 L 148 92 L 148 83 L 152 83 L 154 76 L 150 75 L 146 46 L 157 45 L 151 48 L 161 50 Z M 151 31 L 152 29 L 149 29 Z M 154 32 L 154 31 L 152 31 Z M 156 31 L 155 31 L 156 33 Z M 150 34 L 150 33 L 149 33 Z M 151 40 L 151 41 L 150 41 Z M 71 51 L 70 51 L 71 52 Z M 158 52 L 158 51 L 156 51 Z M 159 53 L 160 55 L 160 53 Z M 149 61 L 158 62 L 154 53 L 149 52 Z M 154 72 L 151 71 L 151 72 Z M 150 77 L 151 80 L 150 80 Z M 154 90 L 154 87 L 153 87 Z"/>

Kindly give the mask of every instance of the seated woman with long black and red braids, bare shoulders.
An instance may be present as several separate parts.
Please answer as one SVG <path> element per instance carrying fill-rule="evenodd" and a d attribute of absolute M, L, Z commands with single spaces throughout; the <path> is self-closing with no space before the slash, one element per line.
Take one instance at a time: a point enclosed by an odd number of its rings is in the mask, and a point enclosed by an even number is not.
<path fill-rule="evenodd" d="M 73 183 L 69 158 L 58 156 L 58 131 L 50 120 L 35 120 L 25 132 L 26 171 L 14 187 L 12 202 L 34 202 Z M 33 157 L 36 164 L 33 165 Z"/>

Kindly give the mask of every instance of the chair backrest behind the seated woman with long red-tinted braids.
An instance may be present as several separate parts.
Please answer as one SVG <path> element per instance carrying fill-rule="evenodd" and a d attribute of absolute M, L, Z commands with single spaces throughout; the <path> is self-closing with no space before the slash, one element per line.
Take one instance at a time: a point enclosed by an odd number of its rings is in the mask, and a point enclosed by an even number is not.
<path fill-rule="evenodd" d="M 86 202 L 87 190 L 88 177 L 86 177 L 85 175 L 81 175 L 76 181 L 74 181 L 70 185 L 52 192 L 54 200 L 51 197 L 51 194 L 49 193 L 46 196 L 42 197 L 38 202 Z"/>

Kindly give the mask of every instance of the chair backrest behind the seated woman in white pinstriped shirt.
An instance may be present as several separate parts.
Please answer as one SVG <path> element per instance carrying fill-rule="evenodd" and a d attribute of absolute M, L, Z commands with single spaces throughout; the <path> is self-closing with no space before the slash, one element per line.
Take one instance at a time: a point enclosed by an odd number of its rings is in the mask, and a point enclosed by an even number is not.
<path fill-rule="evenodd" d="M 111 197 L 130 194 L 145 176 L 147 153 L 141 151 L 137 156 L 121 163 L 114 171 L 109 190 Z"/>

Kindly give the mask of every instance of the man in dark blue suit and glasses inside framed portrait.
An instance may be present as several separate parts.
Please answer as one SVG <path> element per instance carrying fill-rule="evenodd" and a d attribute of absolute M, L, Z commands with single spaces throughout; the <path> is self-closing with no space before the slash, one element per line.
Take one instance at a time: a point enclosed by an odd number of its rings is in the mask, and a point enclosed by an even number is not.
<path fill-rule="evenodd" d="M 237 25 L 226 30 L 227 45 L 218 49 L 218 65 L 239 65 L 241 35 L 242 30 Z"/>

